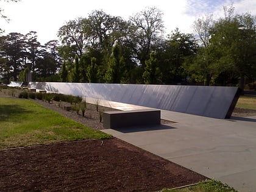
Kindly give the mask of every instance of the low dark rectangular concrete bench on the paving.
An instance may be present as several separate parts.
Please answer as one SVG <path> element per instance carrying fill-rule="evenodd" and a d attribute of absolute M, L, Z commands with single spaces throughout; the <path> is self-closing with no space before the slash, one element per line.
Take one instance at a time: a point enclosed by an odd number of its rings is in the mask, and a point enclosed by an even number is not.
<path fill-rule="evenodd" d="M 129 110 L 103 112 L 103 127 L 113 129 L 132 126 L 152 126 L 161 124 L 160 110 Z"/>

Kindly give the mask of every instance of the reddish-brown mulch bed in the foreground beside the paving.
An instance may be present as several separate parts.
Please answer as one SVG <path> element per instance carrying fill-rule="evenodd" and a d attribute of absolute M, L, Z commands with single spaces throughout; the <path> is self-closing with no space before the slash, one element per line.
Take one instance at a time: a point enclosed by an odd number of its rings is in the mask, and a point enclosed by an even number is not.
<path fill-rule="evenodd" d="M 157 191 L 207 179 L 117 138 L 0 151 L 0 191 Z"/>

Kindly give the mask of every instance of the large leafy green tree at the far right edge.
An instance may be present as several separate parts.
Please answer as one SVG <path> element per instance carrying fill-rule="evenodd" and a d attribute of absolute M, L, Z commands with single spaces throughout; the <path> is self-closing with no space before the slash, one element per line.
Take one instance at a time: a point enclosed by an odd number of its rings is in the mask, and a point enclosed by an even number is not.
<path fill-rule="evenodd" d="M 221 49 L 226 70 L 238 74 L 239 87 L 244 90 L 245 77 L 255 76 L 256 20 L 249 13 L 233 15 L 232 7 L 230 9 L 213 27 L 211 41 Z"/>

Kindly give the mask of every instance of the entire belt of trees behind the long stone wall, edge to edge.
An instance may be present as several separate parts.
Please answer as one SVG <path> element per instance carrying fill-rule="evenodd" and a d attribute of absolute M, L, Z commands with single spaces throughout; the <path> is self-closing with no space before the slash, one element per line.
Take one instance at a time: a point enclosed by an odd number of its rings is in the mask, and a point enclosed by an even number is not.
<path fill-rule="evenodd" d="M 163 13 L 146 7 L 124 20 L 103 10 L 66 22 L 59 41 L 37 32 L 0 37 L 0 75 L 32 80 L 122 84 L 239 85 L 256 80 L 256 19 L 250 13 L 194 21 L 194 34 L 164 37 Z M 171 22 L 171 21 L 170 21 Z"/>

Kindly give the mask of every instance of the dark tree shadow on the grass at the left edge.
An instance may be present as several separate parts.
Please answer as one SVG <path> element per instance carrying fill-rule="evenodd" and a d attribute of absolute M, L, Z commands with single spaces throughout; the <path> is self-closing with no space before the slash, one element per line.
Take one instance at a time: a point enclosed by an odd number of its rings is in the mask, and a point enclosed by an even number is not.
<path fill-rule="evenodd" d="M 0 105 L 0 121 L 7 121 L 11 116 L 18 116 L 30 112 L 30 110 L 19 105 Z"/>

